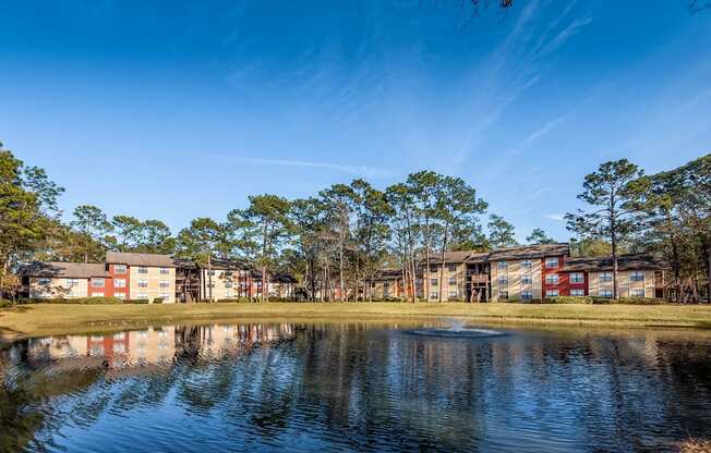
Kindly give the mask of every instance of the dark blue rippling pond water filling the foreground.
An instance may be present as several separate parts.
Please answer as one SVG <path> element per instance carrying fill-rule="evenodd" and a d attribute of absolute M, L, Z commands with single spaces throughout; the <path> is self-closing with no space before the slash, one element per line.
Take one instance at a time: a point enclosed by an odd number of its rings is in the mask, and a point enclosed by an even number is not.
<path fill-rule="evenodd" d="M 711 438 L 711 336 L 165 326 L 0 352 L 0 450 L 660 451 Z"/>

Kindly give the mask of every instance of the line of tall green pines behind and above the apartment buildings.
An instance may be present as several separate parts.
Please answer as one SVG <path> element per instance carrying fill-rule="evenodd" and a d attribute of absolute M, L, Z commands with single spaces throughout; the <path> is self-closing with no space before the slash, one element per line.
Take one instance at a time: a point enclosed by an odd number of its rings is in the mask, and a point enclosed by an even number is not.
<path fill-rule="evenodd" d="M 589 209 L 568 213 L 578 256 L 654 252 L 673 269 L 676 297 L 709 294 L 711 270 L 711 155 L 678 169 L 644 175 L 627 160 L 605 162 L 586 176 L 579 196 Z M 461 177 L 433 171 L 411 173 L 385 189 L 356 179 L 289 200 L 249 196 L 246 208 L 225 219 L 198 218 L 173 234 L 160 220 L 77 206 L 63 221 L 63 188 L 37 167 L 25 166 L 0 146 L 0 282 L 17 287 L 13 270 L 28 260 L 97 262 L 107 250 L 160 253 L 207 264 L 234 259 L 299 279 L 309 299 L 372 299 L 383 268 L 399 269 L 412 298 L 422 261 L 444 265 L 445 253 L 517 245 L 514 225 L 489 213 L 489 205 Z M 484 232 L 484 225 L 486 232 Z M 534 229 L 528 243 L 553 243 Z M 445 266 L 439 266 L 439 285 Z M 422 282 L 430 294 L 429 279 Z M 264 286 L 263 286 L 264 287 Z M 264 295 L 263 295 L 264 296 Z M 443 295 L 439 294 L 439 299 Z"/>

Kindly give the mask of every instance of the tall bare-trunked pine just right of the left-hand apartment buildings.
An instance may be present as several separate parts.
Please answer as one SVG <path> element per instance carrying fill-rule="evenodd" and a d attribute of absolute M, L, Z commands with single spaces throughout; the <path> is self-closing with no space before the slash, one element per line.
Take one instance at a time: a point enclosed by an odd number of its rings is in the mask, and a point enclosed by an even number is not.
<path fill-rule="evenodd" d="M 262 270 L 262 301 L 268 298 L 269 269 L 280 246 L 292 231 L 289 219 L 290 203 L 277 195 L 264 194 L 249 197 L 250 206 L 233 211 L 240 218 L 249 236 L 260 243 L 256 264 Z"/>

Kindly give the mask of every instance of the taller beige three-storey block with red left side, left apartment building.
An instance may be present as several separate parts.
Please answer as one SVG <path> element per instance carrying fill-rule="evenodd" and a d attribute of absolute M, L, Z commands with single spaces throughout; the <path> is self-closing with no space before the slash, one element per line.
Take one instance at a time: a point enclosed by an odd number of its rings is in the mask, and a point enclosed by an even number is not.
<path fill-rule="evenodd" d="M 115 297 L 176 302 L 176 264 L 169 255 L 107 252 L 106 268 Z"/>

